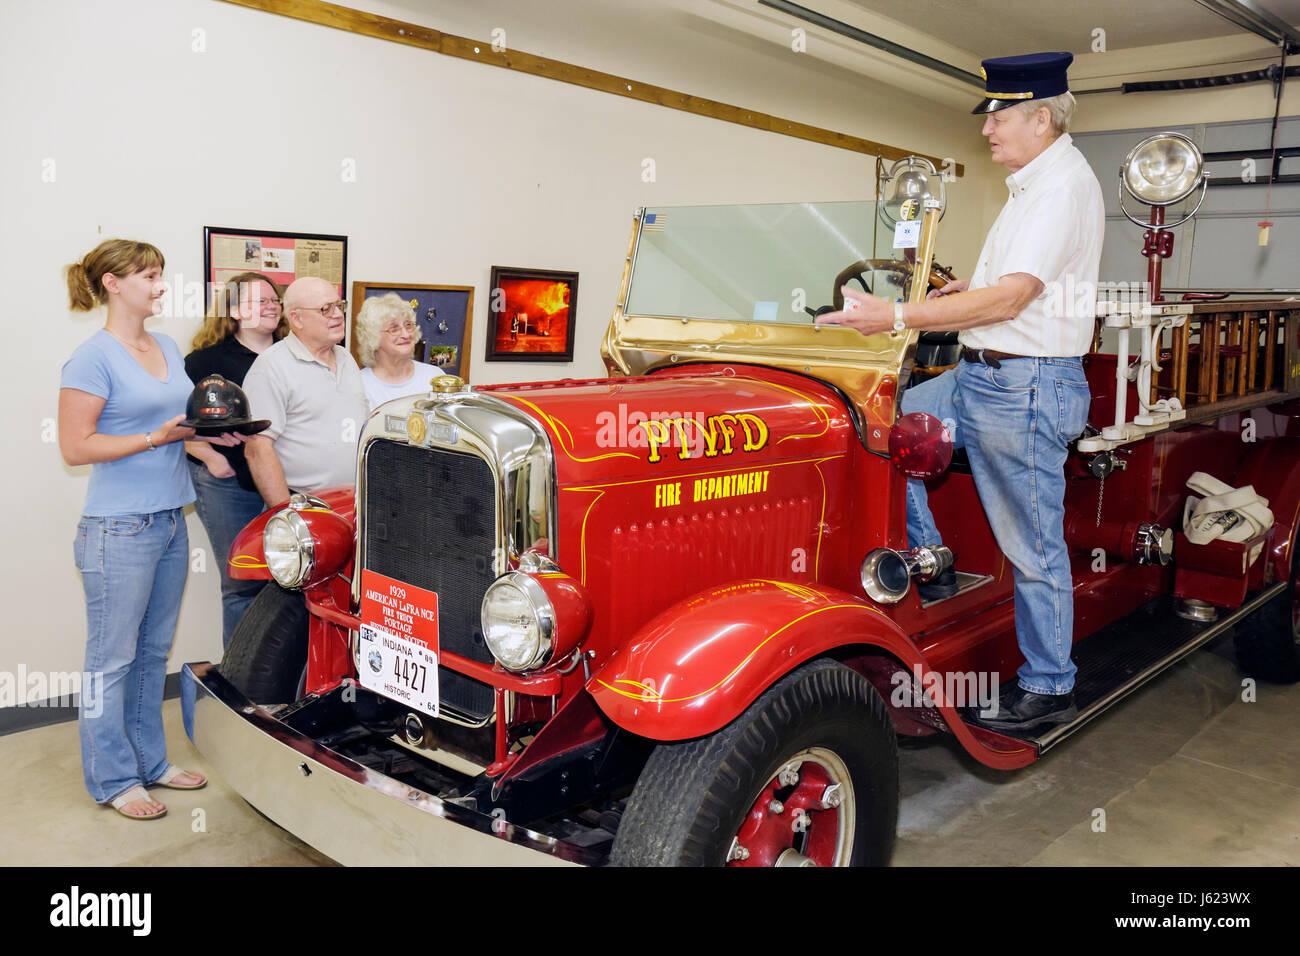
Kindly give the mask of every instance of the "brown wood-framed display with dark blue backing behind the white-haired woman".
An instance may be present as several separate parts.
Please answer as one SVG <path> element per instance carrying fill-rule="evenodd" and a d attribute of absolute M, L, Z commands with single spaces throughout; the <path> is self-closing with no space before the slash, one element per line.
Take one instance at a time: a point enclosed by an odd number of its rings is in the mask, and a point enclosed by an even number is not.
<path fill-rule="evenodd" d="M 356 354 L 356 316 L 367 299 L 396 293 L 415 310 L 420 326 L 420 341 L 415 343 L 415 360 L 437 365 L 447 375 L 458 375 L 469 381 L 469 333 L 474 315 L 474 287 L 472 285 L 415 285 L 412 282 L 354 282 L 350 308 L 352 323 L 347 342 L 352 358 Z"/>

